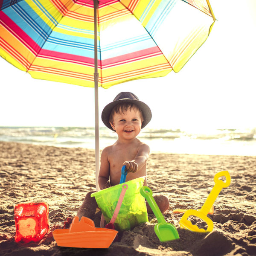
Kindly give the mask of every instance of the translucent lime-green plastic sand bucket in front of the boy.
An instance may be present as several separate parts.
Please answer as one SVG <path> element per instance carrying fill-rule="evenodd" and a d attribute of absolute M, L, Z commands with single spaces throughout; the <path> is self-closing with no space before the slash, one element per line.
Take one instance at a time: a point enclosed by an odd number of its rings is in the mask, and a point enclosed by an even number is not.
<path fill-rule="evenodd" d="M 140 188 L 143 187 L 143 183 L 144 177 L 140 177 L 91 194 L 91 197 L 95 197 L 105 220 L 109 223 L 116 209 L 122 185 L 128 185 L 115 221 L 116 230 L 131 230 L 140 223 L 148 221 L 145 199 L 140 195 Z"/>

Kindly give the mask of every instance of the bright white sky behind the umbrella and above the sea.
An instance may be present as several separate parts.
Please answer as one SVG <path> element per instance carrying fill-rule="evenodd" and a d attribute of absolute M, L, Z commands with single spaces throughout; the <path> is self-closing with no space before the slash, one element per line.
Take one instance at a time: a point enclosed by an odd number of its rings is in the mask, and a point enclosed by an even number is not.
<path fill-rule="evenodd" d="M 100 87 L 99 116 L 131 91 L 151 108 L 149 128 L 256 127 L 256 0 L 210 3 L 217 20 L 183 69 Z M 0 70 L 0 126 L 94 126 L 93 88 L 33 79 L 1 57 Z"/>

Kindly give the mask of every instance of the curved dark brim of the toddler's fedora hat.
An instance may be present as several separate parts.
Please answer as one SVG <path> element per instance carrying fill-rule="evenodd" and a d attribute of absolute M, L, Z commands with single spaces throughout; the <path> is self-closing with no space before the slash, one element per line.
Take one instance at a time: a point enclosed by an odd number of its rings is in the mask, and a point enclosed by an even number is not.
<path fill-rule="evenodd" d="M 141 128 L 144 128 L 148 124 L 148 122 L 151 120 L 152 118 L 151 110 L 148 107 L 148 105 L 146 105 L 144 102 L 141 102 L 135 99 L 119 99 L 117 101 L 111 102 L 108 105 L 106 105 L 102 111 L 102 122 L 112 131 L 114 130 L 111 127 L 111 124 L 109 122 L 109 117 L 112 109 L 120 103 L 131 103 L 131 104 L 137 105 L 137 107 L 141 110 L 143 114 L 143 119 L 144 119 L 142 122 Z"/>

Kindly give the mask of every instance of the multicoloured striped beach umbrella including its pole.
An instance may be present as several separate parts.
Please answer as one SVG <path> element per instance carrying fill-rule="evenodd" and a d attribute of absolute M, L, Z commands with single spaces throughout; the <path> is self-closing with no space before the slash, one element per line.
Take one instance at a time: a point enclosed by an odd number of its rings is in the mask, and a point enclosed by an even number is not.
<path fill-rule="evenodd" d="M 214 21 L 208 0 L 0 0 L 0 56 L 36 79 L 95 87 L 97 176 L 98 87 L 178 72 Z"/>

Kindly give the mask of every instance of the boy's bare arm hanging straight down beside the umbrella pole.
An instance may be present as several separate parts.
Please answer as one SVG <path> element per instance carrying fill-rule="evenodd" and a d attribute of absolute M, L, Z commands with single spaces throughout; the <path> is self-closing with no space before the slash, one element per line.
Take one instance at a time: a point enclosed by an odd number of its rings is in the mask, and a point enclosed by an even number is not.
<path fill-rule="evenodd" d="M 106 189 L 110 186 L 108 150 L 106 148 L 103 149 L 101 154 L 98 183 L 100 189 Z"/>

